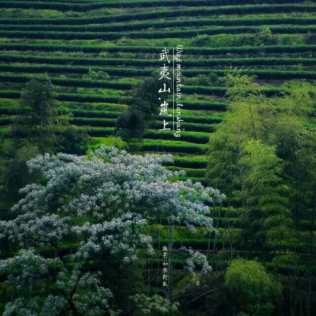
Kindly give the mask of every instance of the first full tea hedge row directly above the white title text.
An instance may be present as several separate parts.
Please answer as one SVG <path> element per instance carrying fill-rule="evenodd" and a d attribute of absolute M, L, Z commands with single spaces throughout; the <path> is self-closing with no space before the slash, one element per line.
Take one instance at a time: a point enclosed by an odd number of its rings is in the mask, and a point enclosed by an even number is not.
<path fill-rule="evenodd" d="M 280 34 L 308 34 L 316 32 L 316 25 L 280 25 L 269 26 L 273 33 Z M 138 31 L 138 32 L 55 32 L 55 31 L 0 31 L 0 37 L 15 39 L 49 39 L 49 40 L 118 40 L 122 37 L 129 39 L 171 39 L 192 38 L 198 34 L 243 34 L 257 33 L 262 30 L 260 26 L 231 26 L 211 27 L 194 30 L 176 31 Z"/>

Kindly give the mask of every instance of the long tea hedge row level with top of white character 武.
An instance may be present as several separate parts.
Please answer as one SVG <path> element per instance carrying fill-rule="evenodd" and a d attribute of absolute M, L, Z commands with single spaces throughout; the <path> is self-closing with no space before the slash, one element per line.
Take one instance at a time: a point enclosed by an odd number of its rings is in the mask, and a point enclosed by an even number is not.
<path fill-rule="evenodd" d="M 32 51 L 65 51 L 65 52 L 128 52 L 157 54 L 161 48 L 157 46 L 94 46 L 94 45 L 57 45 L 57 44 L 28 44 L 28 43 L 0 43 L 2 50 L 32 50 Z M 193 55 L 222 55 L 249 53 L 303 53 L 316 52 L 316 45 L 267 45 L 267 46 L 232 46 L 232 47 L 186 47 L 186 54 Z"/>

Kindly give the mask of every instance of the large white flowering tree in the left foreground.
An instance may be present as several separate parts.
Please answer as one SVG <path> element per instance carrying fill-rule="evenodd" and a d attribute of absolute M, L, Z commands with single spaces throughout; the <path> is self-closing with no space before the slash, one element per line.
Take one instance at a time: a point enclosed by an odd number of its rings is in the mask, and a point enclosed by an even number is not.
<path fill-rule="evenodd" d="M 212 229 L 204 202 L 212 202 L 213 189 L 169 181 L 178 173 L 161 163 L 171 160 L 101 146 L 87 157 L 45 154 L 28 161 L 40 180 L 21 190 L 12 208 L 16 218 L 0 222 L 1 241 L 10 245 L 0 261 L 9 301 L 3 315 L 119 315 L 124 307 L 117 306 L 109 279 L 153 252 L 146 225 L 163 219 Z M 205 256 L 192 250 L 187 264 L 190 271 L 196 265 L 210 271 Z M 138 315 L 176 309 L 157 295 L 135 295 L 135 310 L 142 301 Z"/>

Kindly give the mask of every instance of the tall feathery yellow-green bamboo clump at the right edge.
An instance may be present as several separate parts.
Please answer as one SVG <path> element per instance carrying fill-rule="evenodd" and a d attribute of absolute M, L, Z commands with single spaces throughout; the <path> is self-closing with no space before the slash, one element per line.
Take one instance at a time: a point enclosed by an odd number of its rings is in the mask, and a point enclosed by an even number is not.
<path fill-rule="evenodd" d="M 211 139 L 206 177 L 209 183 L 221 182 L 224 193 L 241 206 L 244 241 L 252 249 L 289 251 L 300 260 L 296 267 L 307 263 L 301 253 L 310 253 L 306 268 L 311 284 L 316 133 L 306 126 L 315 113 L 316 86 L 304 80 L 288 82 L 282 93 L 268 98 L 255 77 L 235 70 L 227 73 L 226 85 L 232 105 Z M 301 234 L 304 221 L 311 230 L 309 240 Z M 282 260 L 275 259 L 276 267 Z M 298 280 L 298 293 L 301 275 L 297 268 L 293 278 L 294 284 Z M 311 289 L 308 297 L 307 314 Z"/>

